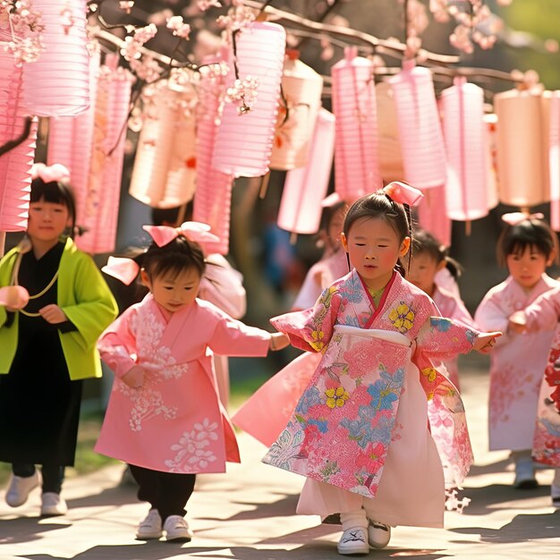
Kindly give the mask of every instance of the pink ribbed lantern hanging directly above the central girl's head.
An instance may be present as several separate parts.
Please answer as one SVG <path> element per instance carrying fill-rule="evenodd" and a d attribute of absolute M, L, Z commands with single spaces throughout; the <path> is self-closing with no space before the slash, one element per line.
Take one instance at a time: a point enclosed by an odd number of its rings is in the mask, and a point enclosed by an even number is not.
<path fill-rule="evenodd" d="M 348 47 L 331 69 L 336 117 L 335 191 L 359 199 L 383 184 L 379 172 L 378 121 L 373 64 Z"/>

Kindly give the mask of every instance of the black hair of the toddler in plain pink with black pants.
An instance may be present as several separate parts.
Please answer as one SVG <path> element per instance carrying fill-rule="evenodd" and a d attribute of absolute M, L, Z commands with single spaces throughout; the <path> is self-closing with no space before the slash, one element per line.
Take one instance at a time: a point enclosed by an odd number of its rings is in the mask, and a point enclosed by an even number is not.
<path fill-rule="evenodd" d="M 190 268 L 195 268 L 199 276 L 202 276 L 206 268 L 199 243 L 191 242 L 182 235 L 163 247 L 158 247 L 153 242 L 137 262 L 144 268 L 150 279 L 165 274 L 177 276 Z"/>

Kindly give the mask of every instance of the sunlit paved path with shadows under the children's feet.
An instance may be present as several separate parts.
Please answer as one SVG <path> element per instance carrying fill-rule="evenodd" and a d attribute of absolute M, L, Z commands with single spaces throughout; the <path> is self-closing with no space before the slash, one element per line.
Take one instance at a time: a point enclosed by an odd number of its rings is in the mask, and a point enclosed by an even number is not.
<path fill-rule="evenodd" d="M 488 453 L 487 376 L 462 372 L 476 465 L 465 494 L 465 513 L 445 513 L 446 530 L 397 527 L 389 547 L 369 558 L 422 560 L 541 560 L 560 558 L 560 511 L 550 505 L 552 471 L 538 472 L 534 490 L 511 487 L 513 472 L 505 453 Z M 199 477 L 188 519 L 195 531 L 189 544 L 134 540 L 146 505 L 133 488 L 118 487 L 122 467 L 68 479 L 64 517 L 38 517 L 38 490 L 18 509 L 5 505 L 0 491 L 0 560 L 167 560 L 211 558 L 240 560 L 340 560 L 335 543 L 340 527 L 319 525 L 318 518 L 295 515 L 302 479 L 259 462 L 265 448 L 240 436 L 242 465 L 226 475 Z"/>

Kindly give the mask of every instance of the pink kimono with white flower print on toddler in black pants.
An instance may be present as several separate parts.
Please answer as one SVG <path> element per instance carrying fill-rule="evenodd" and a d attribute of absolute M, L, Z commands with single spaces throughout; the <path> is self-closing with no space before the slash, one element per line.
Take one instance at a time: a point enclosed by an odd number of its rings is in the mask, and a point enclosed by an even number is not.
<path fill-rule="evenodd" d="M 208 349 L 265 356 L 269 343 L 269 333 L 208 301 L 170 315 L 148 293 L 98 342 L 115 382 L 96 451 L 154 471 L 224 472 L 225 461 L 240 461 L 239 450 Z M 121 380 L 134 365 L 147 374 L 140 389 Z"/>

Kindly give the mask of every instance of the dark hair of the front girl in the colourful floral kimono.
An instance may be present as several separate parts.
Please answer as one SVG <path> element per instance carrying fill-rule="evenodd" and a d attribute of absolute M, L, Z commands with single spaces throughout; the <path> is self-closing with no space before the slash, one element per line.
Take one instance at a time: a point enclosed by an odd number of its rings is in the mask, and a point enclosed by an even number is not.
<path fill-rule="evenodd" d="M 357 199 L 346 212 L 344 217 L 343 232 L 346 237 L 350 232 L 352 224 L 362 217 L 381 218 L 385 220 L 395 231 L 399 242 L 403 242 L 406 237 L 412 240 L 412 217 L 411 208 L 408 204 L 395 202 L 388 194 L 383 191 L 372 192 L 361 199 Z M 409 250 L 408 264 L 411 264 L 412 251 Z M 396 269 L 405 276 L 405 268 L 401 259 L 396 262 Z"/>

